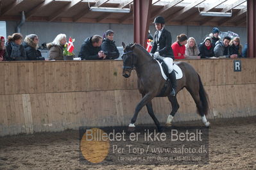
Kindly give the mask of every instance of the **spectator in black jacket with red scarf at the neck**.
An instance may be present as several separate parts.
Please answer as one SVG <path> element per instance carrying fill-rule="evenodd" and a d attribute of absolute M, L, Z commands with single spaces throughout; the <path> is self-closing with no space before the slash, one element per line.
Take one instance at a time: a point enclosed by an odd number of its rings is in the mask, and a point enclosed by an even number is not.
<path fill-rule="evenodd" d="M 205 40 L 198 45 L 200 51 L 199 56 L 201 58 L 211 58 L 214 57 L 214 47 L 212 45 L 212 38 L 208 36 Z"/>

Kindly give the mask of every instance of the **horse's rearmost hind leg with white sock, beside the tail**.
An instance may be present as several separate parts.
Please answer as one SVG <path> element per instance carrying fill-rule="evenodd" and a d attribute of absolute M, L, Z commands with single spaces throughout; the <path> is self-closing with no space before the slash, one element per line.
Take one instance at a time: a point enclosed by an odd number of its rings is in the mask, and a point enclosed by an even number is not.
<path fill-rule="evenodd" d="M 209 127 L 210 122 L 207 121 L 206 117 L 205 117 L 205 113 L 202 111 L 203 110 L 203 104 L 200 100 L 200 95 L 198 92 L 194 92 L 192 89 L 187 88 L 187 90 L 189 91 L 189 93 L 191 94 L 192 98 L 194 99 L 194 102 L 196 103 L 196 107 L 198 108 L 198 113 L 201 116 L 201 119 L 203 121 L 203 124 L 205 124 L 205 127 Z"/>

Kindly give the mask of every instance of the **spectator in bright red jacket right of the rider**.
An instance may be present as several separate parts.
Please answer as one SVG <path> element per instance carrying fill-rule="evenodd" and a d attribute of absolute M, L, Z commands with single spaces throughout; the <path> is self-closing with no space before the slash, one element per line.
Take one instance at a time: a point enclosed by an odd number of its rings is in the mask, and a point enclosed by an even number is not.
<path fill-rule="evenodd" d="M 187 36 L 184 34 L 181 34 L 177 36 L 177 40 L 175 43 L 171 45 L 171 48 L 173 49 L 173 54 L 175 56 L 175 59 L 184 59 L 185 58 L 185 44 L 187 43 Z"/>

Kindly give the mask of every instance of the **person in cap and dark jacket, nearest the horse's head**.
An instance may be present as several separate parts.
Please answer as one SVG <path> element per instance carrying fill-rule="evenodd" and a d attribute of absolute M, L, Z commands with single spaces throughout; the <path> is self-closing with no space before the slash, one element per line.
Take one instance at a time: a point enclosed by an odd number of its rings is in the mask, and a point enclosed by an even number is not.
<path fill-rule="evenodd" d="M 105 59 L 117 59 L 119 58 L 119 51 L 115 45 L 114 31 L 108 30 L 103 36 L 103 42 L 101 44 L 101 50 L 107 55 Z"/>

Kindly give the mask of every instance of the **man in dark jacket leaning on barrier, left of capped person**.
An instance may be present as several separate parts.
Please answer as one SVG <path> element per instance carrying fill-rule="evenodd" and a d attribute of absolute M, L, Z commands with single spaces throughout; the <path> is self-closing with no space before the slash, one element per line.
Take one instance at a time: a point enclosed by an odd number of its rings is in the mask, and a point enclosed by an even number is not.
<path fill-rule="evenodd" d="M 87 59 L 105 59 L 107 56 L 101 50 L 102 37 L 99 35 L 90 36 L 81 45 L 79 57 Z"/>

